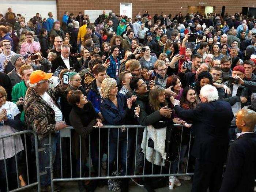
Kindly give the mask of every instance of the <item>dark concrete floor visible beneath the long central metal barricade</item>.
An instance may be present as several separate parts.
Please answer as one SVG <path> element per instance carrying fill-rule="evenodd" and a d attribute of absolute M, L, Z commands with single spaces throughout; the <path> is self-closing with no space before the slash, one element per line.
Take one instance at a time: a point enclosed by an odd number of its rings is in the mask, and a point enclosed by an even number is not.
<path fill-rule="evenodd" d="M 78 184 L 77 182 L 59 182 L 61 186 L 61 192 L 79 192 Z M 164 188 L 155 189 L 156 192 L 190 192 L 192 187 L 192 181 L 183 181 L 181 180 L 181 186 L 177 187 L 174 186 L 172 190 L 169 189 L 169 186 L 166 186 Z M 103 188 L 97 188 L 95 192 L 111 192 L 108 190 L 106 186 Z M 118 190 L 117 192 L 120 192 L 121 190 Z M 130 192 L 147 192 L 147 190 L 144 187 L 139 187 L 134 182 L 129 182 L 129 191 Z"/>

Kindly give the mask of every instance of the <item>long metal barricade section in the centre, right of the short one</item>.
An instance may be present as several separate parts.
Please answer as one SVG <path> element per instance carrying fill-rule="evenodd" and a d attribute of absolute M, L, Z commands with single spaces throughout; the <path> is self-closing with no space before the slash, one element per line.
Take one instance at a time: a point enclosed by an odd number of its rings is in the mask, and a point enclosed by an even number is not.
<path fill-rule="evenodd" d="M 61 168 L 61 176 L 60 178 L 53 178 L 53 162 L 52 162 L 52 147 L 49 147 L 49 154 L 50 154 L 50 175 L 51 175 L 51 187 L 52 187 L 52 191 L 53 191 L 53 187 L 54 187 L 54 182 L 59 182 L 59 181 L 81 181 L 81 180 L 97 180 L 97 179 L 109 179 L 109 178 L 135 178 L 135 177 L 160 177 L 160 176 L 189 176 L 189 175 L 193 175 L 193 173 L 188 173 L 188 163 L 189 163 L 189 153 L 190 153 L 190 147 L 191 147 L 191 132 L 189 135 L 189 143 L 188 143 L 188 156 L 187 156 L 187 162 L 186 162 L 186 166 L 185 166 L 185 173 L 179 173 L 179 169 L 180 169 L 180 161 L 181 161 L 181 147 L 182 147 L 182 135 L 183 135 L 183 129 L 184 127 L 182 125 L 174 125 L 175 127 L 181 127 L 181 138 L 180 138 L 180 146 L 179 146 L 179 154 L 178 154 L 178 166 L 177 166 L 177 173 L 172 173 L 171 172 L 171 165 L 174 163 L 169 163 L 169 173 L 165 172 L 162 173 L 162 163 L 161 163 L 161 172 L 160 174 L 153 174 L 154 172 L 154 160 L 152 162 L 152 171 L 151 174 L 145 174 L 145 160 L 146 160 L 146 155 L 144 154 L 144 162 L 143 162 L 143 172 L 141 174 L 136 174 L 136 155 L 137 155 L 137 144 L 138 144 L 138 129 L 142 129 L 142 128 L 146 128 L 145 126 L 141 126 L 141 125 L 111 125 L 111 126 L 103 126 L 101 128 L 95 128 L 95 129 L 99 129 L 98 131 L 98 157 L 100 157 L 100 152 L 101 152 L 101 148 L 100 148 L 100 143 L 101 143 L 101 130 L 102 129 L 108 129 L 108 158 L 107 158 L 107 172 L 106 172 L 106 176 L 101 176 L 100 175 L 100 169 L 101 169 L 101 159 L 98 158 L 98 173 L 97 176 L 91 176 L 91 134 L 89 135 L 88 139 L 89 139 L 89 176 L 88 177 L 84 177 L 82 175 L 82 160 L 81 160 L 81 140 L 83 138 L 81 138 L 81 135 L 79 135 L 79 149 L 80 149 L 80 177 L 73 177 L 72 176 L 72 149 L 71 149 L 71 130 L 74 129 L 73 127 L 67 127 L 65 129 L 62 129 L 60 131 L 60 168 Z M 111 176 L 111 173 L 109 173 L 109 154 L 110 154 L 110 129 L 118 129 L 118 128 L 126 128 L 127 129 L 127 138 L 126 138 L 126 165 L 125 165 L 125 175 L 122 176 L 118 176 L 118 171 L 117 171 L 117 175 L 116 176 Z M 129 129 L 131 131 L 131 129 L 136 129 L 136 144 L 135 145 L 135 161 L 134 161 L 134 166 L 132 169 L 132 174 L 127 174 L 127 153 L 128 153 L 128 138 L 129 138 Z M 147 129 L 146 129 L 147 130 Z M 51 143 L 51 134 L 49 134 L 49 144 L 52 145 Z M 69 156 L 70 156 L 70 178 L 64 178 L 63 177 L 63 155 L 62 155 L 62 144 L 61 144 L 61 138 L 69 138 Z M 118 161 L 119 161 L 119 131 L 117 131 L 117 156 L 116 156 L 116 169 L 118 170 Z M 67 150 L 67 149 L 66 149 Z M 153 153 L 154 156 L 154 153 Z M 162 157 L 161 157 L 162 158 Z M 161 160 L 163 162 L 163 158 Z M 177 162 L 177 160 L 176 160 Z M 124 170 L 123 170 L 124 171 Z"/>

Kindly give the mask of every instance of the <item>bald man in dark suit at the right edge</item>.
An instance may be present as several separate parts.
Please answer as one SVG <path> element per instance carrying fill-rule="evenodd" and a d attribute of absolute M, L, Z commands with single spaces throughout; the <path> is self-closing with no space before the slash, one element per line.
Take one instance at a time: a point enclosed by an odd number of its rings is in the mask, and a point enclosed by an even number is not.
<path fill-rule="evenodd" d="M 256 113 L 237 112 L 236 125 L 241 133 L 229 148 L 225 176 L 219 192 L 253 192 L 256 178 Z"/>

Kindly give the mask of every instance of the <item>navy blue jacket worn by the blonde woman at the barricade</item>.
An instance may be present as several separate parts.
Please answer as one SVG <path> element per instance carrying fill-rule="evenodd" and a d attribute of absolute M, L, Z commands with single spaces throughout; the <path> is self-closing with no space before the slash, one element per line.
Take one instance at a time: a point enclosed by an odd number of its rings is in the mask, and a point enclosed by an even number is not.
<path fill-rule="evenodd" d="M 118 108 L 110 99 L 103 98 L 100 103 L 101 114 L 105 119 L 106 125 L 125 125 L 126 118 L 131 110 L 127 107 L 127 96 L 121 93 L 116 95 Z M 110 129 L 110 140 L 117 140 L 117 129 Z M 119 128 L 119 140 L 126 139 L 127 129 L 122 132 Z"/>

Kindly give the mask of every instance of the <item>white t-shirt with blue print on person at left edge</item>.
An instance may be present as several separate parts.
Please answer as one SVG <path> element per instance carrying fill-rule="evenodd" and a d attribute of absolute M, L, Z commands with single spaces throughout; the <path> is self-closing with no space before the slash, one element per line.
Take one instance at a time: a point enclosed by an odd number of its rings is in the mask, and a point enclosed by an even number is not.
<path fill-rule="evenodd" d="M 1 106 L 0 111 L 2 111 L 3 109 L 7 110 L 7 117 L 12 119 L 14 119 L 14 117 L 20 113 L 17 105 L 10 101 L 7 101 L 3 106 Z M 4 121 L 2 121 L 0 124 L 1 124 L 0 135 L 6 135 L 6 134 L 18 132 L 18 130 L 10 127 L 9 125 L 5 125 Z M 4 159 L 4 152 L 5 152 L 6 159 L 11 158 L 15 155 L 14 137 L 15 137 L 15 145 L 16 145 L 16 154 L 24 150 L 20 135 L 4 138 L 3 139 L 4 150 L 3 150 L 2 139 L 0 139 L 0 160 Z"/>

